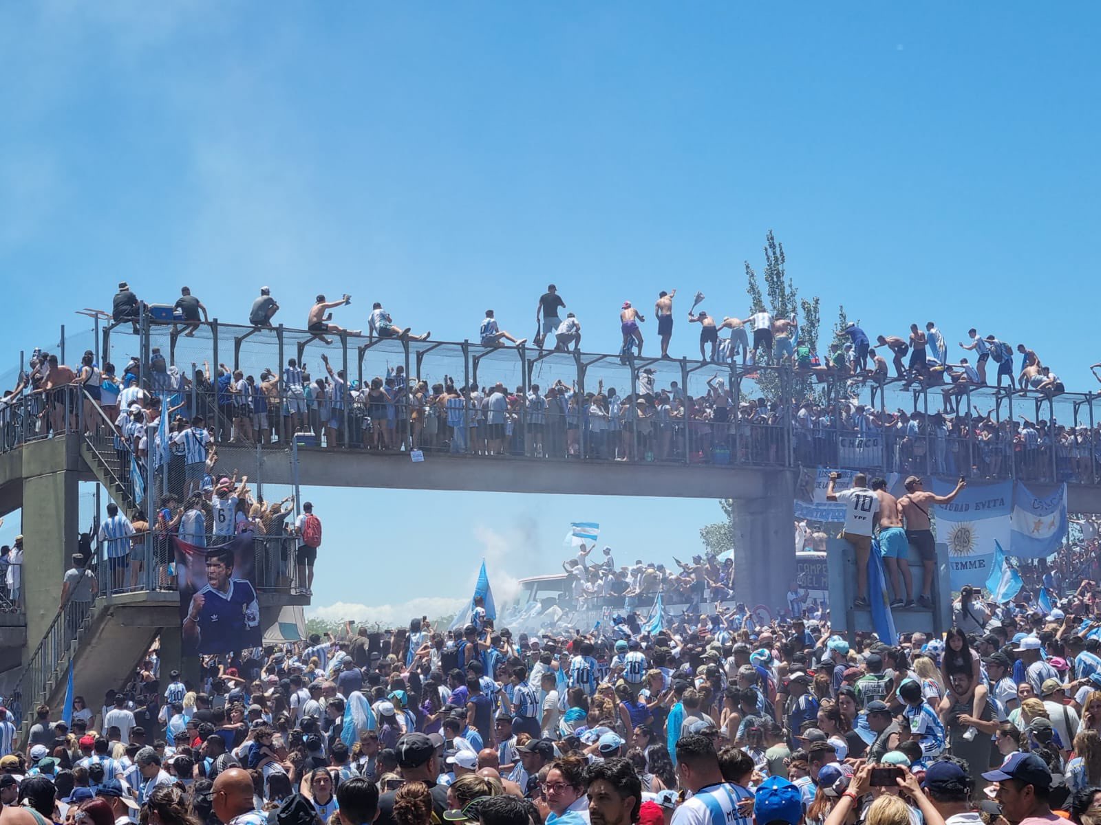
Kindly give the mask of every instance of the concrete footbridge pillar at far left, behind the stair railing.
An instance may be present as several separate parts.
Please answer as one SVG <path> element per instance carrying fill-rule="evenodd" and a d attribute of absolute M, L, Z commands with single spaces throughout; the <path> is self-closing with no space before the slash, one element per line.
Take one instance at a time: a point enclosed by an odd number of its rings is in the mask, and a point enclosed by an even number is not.
<path fill-rule="evenodd" d="M 25 449 L 25 448 L 24 448 Z M 57 614 L 62 579 L 80 532 L 75 471 L 33 475 L 23 481 L 23 604 L 26 656 Z"/>

